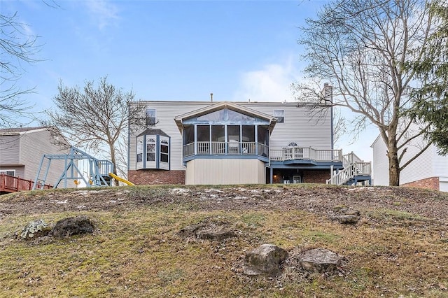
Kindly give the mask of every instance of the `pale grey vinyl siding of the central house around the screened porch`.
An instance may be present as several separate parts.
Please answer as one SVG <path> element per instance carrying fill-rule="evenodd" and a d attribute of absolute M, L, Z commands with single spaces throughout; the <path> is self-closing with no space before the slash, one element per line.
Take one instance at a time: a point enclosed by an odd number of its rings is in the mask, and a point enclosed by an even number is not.
<path fill-rule="evenodd" d="M 210 101 L 143 101 L 147 108 L 155 108 L 155 128 L 171 136 L 170 166 L 172 170 L 184 170 L 182 162 L 182 136 L 174 118 L 184 113 L 196 111 L 216 102 Z M 284 110 L 285 122 L 277 123 L 270 139 L 270 148 L 281 149 L 294 141 L 297 146 L 316 149 L 331 149 L 331 109 L 323 108 L 324 113 L 312 113 L 309 108 L 297 108 L 297 103 L 248 103 L 235 102 L 255 111 L 274 115 L 274 110 Z M 144 111 L 142 111 L 144 113 Z M 144 115 L 142 115 L 144 117 Z M 130 133 L 130 164 L 129 169 L 136 167 L 136 136 L 146 127 L 132 127 Z"/>

